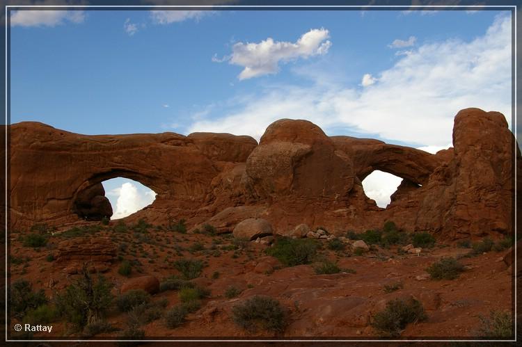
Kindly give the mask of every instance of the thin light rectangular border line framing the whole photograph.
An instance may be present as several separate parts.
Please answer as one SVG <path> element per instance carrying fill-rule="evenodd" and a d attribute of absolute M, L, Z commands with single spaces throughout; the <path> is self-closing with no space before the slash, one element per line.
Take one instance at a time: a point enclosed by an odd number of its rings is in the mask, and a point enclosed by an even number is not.
<path fill-rule="evenodd" d="M 203 340 L 195 340 L 195 339 L 184 339 L 184 340 L 168 340 L 168 339 L 161 339 L 161 340 L 129 340 L 129 339 L 125 339 L 125 340 L 111 340 L 111 339 L 106 339 L 106 340 L 93 340 L 93 339 L 89 339 L 89 340 L 82 340 L 82 339 L 77 339 L 77 340 L 74 340 L 74 339 L 53 339 L 53 340 L 19 340 L 19 339 L 15 339 L 15 340 L 10 340 L 10 339 L 7 339 L 8 337 L 8 317 L 7 317 L 7 305 L 8 305 L 8 302 L 7 302 L 7 288 L 8 288 L 8 279 L 7 279 L 7 271 L 8 271 L 8 268 L 7 268 L 7 245 L 8 245 L 8 239 L 7 239 L 7 231 L 8 231 L 8 225 L 7 225 L 7 211 L 8 211 L 8 201 L 7 201 L 7 168 L 8 168 L 8 148 L 7 148 L 7 140 L 8 140 L 8 136 L 7 136 L 7 129 L 8 129 L 8 126 L 10 126 L 10 124 L 8 124 L 7 122 L 7 22 L 8 22 L 8 18 L 7 18 L 7 10 L 8 8 L 511 8 L 513 10 L 513 16 L 514 16 L 514 22 L 515 22 L 515 33 L 514 33 L 514 37 L 515 37 L 515 56 L 514 56 L 514 61 L 515 61 L 515 71 L 514 71 L 514 79 L 515 79 L 515 83 L 514 83 L 514 89 L 515 89 L 515 96 L 514 96 L 514 114 L 515 114 L 515 120 L 514 120 L 514 128 L 513 128 L 513 131 L 512 131 L 512 134 L 514 134 L 514 138 L 515 138 L 515 147 L 516 147 L 516 132 L 517 132 L 517 129 L 516 129 L 516 30 L 517 30 L 517 26 L 516 26 L 516 14 L 517 14 L 517 6 L 516 5 L 499 5 L 499 6 L 494 6 L 494 5 L 470 5 L 470 6 L 464 6 L 464 5 L 454 5 L 454 6 L 443 6 L 443 5 L 434 5 L 434 6 L 420 6 L 420 5 L 412 5 L 412 6 L 399 6 L 399 5 L 396 5 L 396 6 L 386 6 L 386 5 L 369 5 L 369 6 L 356 6 L 356 5 L 325 5 L 325 6 L 320 6 L 320 5 L 305 5 L 305 6 L 299 6 L 299 5 L 276 5 L 276 6 L 269 6 L 269 5 L 262 5 L 262 6 L 233 6 L 233 5 L 214 5 L 214 6 L 211 6 L 211 5 L 194 5 L 194 6 L 191 6 L 191 5 L 180 5 L 180 6 L 145 6 L 145 5 L 134 5 L 134 6 L 125 6 L 125 5 L 116 5 L 116 6 L 108 6 L 108 5 L 105 5 L 105 6 L 93 6 L 93 5 L 86 5 L 86 6 L 79 6 L 79 5 L 73 5 L 73 6 L 64 6 L 64 5 L 61 5 L 61 6 L 51 6 L 51 5 L 41 5 L 41 6 L 31 6 L 31 5 L 21 5 L 21 6 L 15 6 L 15 5 L 6 5 L 6 22 L 5 22 L 5 25 L 6 25 L 6 342 L 16 342 L 16 341 L 19 341 L 19 342 L 62 342 L 62 341 L 74 341 L 74 342 L 81 342 L 81 341 L 93 341 L 93 342 L 109 342 L 109 341 L 117 341 L 117 342 L 120 342 L 120 341 L 126 341 L 126 342 L 132 342 L 132 341 L 142 341 L 142 342 L 377 342 L 377 341 L 388 341 L 388 342 L 408 342 L 408 341 L 418 341 L 418 342 L 453 342 L 453 341 L 457 341 L 457 342 L 516 342 L 516 276 L 514 276 L 515 278 L 515 293 L 514 293 L 514 296 L 515 296 L 515 325 L 514 325 L 514 330 L 515 330 L 515 335 L 514 335 L 514 339 L 508 339 L 508 340 L 477 340 L 477 339 L 473 339 L 473 340 L 450 340 L 450 339 L 445 339 L 445 340 L 442 340 L 442 339 L 414 339 L 414 340 L 410 340 L 410 339 L 399 339 L 399 340 L 391 340 L 391 339 L 386 339 L 386 340 L 377 340 L 377 339 L 360 339 L 360 340 L 342 340 L 342 339 L 335 339 L 335 340 L 326 340 L 326 339 L 322 339 L 322 340 L 299 340 L 299 339 L 290 339 L 290 340 L 287 340 L 287 339 L 276 339 L 276 340 L 257 340 L 257 339 L 251 339 L 251 340 L 239 340 L 239 339 L 235 339 L 235 340 L 225 340 L 225 339 L 219 339 L 219 340 L 210 340 L 210 339 L 203 339 Z M 516 148 L 515 148 L 516 150 Z M 515 162 L 514 162 L 514 166 L 515 166 L 515 186 L 514 186 L 514 191 L 515 191 L 515 225 L 514 225 L 514 228 L 515 228 L 515 231 L 514 231 L 514 234 L 516 236 L 516 156 L 515 156 Z M 515 249 L 515 274 L 516 274 L 516 243 L 514 245 L 514 249 Z"/>

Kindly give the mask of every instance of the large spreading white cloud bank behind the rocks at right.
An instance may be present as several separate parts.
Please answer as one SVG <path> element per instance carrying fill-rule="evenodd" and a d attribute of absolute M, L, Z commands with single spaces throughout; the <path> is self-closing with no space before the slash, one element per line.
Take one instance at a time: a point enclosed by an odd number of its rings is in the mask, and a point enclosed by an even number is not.
<path fill-rule="evenodd" d="M 510 124 L 509 16 L 497 17 L 487 33 L 469 42 L 432 42 L 397 59 L 372 88 L 270 85 L 256 95 L 236 97 L 235 108 L 222 112 L 226 116 L 209 112 L 195 119 L 189 131 L 259 139 L 274 120 L 299 118 L 315 122 L 327 134 L 361 131 L 416 146 L 444 146 L 452 140 L 454 115 L 462 108 L 500 111 Z"/>

